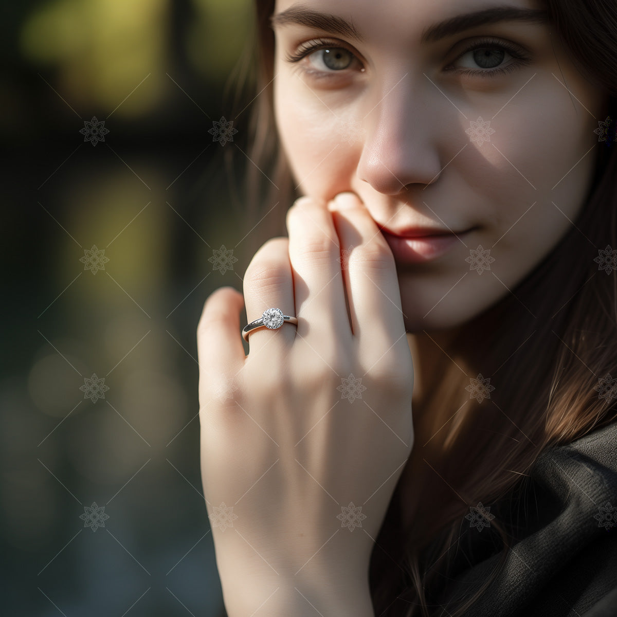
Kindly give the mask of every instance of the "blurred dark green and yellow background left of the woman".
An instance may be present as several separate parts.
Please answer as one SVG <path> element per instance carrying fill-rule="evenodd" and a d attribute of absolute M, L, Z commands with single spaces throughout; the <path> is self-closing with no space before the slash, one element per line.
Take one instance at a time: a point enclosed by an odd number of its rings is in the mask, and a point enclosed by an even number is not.
<path fill-rule="evenodd" d="M 0 612 L 225 615 L 195 331 L 267 237 L 238 217 L 250 99 L 226 89 L 252 3 L 2 15 Z M 209 133 L 223 116 L 225 144 Z"/>

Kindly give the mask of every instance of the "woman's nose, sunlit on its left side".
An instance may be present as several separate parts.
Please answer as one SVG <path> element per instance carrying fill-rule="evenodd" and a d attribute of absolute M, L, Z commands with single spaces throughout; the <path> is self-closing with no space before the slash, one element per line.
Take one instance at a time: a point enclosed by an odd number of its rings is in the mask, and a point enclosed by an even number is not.
<path fill-rule="evenodd" d="M 431 184 L 441 172 L 431 132 L 438 118 L 428 110 L 426 91 L 412 81 L 408 73 L 382 80 L 375 89 L 378 102 L 365 118 L 357 175 L 379 193 L 395 195 L 409 184 Z"/>

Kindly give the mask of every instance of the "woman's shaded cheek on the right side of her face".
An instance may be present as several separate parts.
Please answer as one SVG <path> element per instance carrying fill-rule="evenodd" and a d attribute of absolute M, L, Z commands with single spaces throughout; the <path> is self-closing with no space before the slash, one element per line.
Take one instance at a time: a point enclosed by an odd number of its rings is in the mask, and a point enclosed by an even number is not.
<path fill-rule="evenodd" d="M 510 262 L 520 257 L 522 270 L 568 231 L 593 176 L 597 122 L 557 81 L 555 86 L 528 86 L 518 101 L 489 116 L 495 131 L 490 142 L 470 144 L 457 166 L 460 182 L 483 204 L 483 218 L 494 228 L 495 256 L 508 255 Z"/>

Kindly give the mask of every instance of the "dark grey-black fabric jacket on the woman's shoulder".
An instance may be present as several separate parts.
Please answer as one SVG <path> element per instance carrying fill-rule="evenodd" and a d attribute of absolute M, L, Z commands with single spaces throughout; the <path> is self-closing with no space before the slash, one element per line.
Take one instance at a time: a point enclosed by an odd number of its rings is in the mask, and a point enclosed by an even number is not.
<path fill-rule="evenodd" d="M 465 617 L 617 617 L 617 423 L 544 450 L 523 484 L 507 508 L 516 542 Z M 477 523 L 470 516 L 474 548 L 434 615 L 449 615 L 453 599 L 470 597 L 499 561 Z M 483 552 L 470 566 L 469 555 Z"/>

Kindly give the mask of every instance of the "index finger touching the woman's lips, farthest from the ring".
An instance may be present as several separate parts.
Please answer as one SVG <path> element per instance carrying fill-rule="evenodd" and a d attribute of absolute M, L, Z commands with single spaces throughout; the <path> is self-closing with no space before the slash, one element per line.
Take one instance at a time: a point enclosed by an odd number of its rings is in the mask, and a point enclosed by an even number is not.
<path fill-rule="evenodd" d="M 341 246 L 350 251 L 342 274 L 354 336 L 360 347 L 365 341 L 374 348 L 376 337 L 392 344 L 405 333 L 392 251 L 357 195 L 339 193 L 328 207 L 333 208 Z"/>

